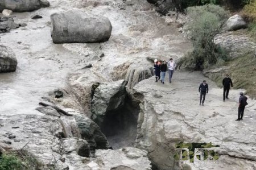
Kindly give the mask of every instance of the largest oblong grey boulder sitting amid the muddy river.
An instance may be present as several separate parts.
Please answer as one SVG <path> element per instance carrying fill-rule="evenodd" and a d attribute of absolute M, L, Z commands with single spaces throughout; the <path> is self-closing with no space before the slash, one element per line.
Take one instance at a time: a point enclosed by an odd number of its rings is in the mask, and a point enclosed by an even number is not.
<path fill-rule="evenodd" d="M 112 32 L 112 24 L 104 16 L 71 10 L 51 15 L 53 43 L 106 42 Z"/>

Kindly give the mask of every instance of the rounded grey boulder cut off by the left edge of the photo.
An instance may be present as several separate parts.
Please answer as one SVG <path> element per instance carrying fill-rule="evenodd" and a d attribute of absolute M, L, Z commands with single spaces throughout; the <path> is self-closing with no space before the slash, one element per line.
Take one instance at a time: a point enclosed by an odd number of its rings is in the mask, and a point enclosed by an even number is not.
<path fill-rule="evenodd" d="M 13 50 L 9 47 L 0 45 L 0 73 L 15 72 L 17 67 L 17 59 Z"/>

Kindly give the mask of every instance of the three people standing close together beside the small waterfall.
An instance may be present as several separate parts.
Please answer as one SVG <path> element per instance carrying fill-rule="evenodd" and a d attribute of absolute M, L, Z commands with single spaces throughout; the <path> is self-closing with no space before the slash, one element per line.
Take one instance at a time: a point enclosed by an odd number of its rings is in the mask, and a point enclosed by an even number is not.
<path fill-rule="evenodd" d="M 163 63 L 161 64 L 158 59 L 154 60 L 154 72 L 155 72 L 155 82 L 158 82 L 161 78 L 162 84 L 164 84 L 164 77 L 166 77 L 166 72 L 168 70 L 169 74 L 169 82 L 172 82 L 172 75 L 174 74 L 174 69 L 176 67 L 175 62 L 171 58 L 170 61 L 166 64 L 166 60 L 163 60 Z"/>

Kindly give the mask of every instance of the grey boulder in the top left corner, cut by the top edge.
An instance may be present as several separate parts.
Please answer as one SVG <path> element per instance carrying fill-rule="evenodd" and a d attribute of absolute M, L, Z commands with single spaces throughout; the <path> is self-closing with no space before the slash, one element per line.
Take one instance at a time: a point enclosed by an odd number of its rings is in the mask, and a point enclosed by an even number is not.
<path fill-rule="evenodd" d="M 0 11 L 4 9 L 13 10 L 14 12 L 26 12 L 40 9 L 39 0 L 2 0 L 0 1 Z"/>

